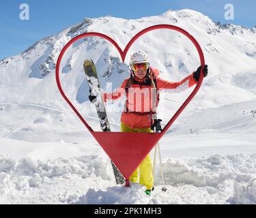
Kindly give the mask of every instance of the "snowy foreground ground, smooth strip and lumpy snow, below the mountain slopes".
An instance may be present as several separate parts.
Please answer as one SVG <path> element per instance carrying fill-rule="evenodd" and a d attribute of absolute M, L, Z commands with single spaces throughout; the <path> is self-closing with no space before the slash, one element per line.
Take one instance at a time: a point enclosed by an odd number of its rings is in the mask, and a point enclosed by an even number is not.
<path fill-rule="evenodd" d="M 70 144 L 0 138 L 0 204 L 256 203 L 256 136 L 165 136 L 161 144 L 167 191 L 161 191 L 158 164 L 150 197 L 141 185 L 115 185 L 100 146 L 89 135 L 83 140 Z"/>

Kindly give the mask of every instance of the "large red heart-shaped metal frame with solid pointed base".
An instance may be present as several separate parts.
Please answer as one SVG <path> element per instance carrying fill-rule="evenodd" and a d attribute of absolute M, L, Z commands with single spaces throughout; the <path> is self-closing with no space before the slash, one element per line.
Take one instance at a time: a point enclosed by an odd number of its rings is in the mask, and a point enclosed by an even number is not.
<path fill-rule="evenodd" d="M 124 62 L 126 58 L 126 54 L 132 46 L 132 44 L 143 34 L 155 30 L 155 29 L 171 29 L 178 31 L 186 37 L 188 37 L 191 42 L 195 45 L 197 48 L 197 52 L 199 53 L 200 61 L 201 61 L 201 72 L 199 76 L 199 81 L 197 82 L 197 85 L 195 89 L 192 91 L 192 93 L 188 96 L 186 101 L 180 106 L 180 108 L 177 110 L 177 112 L 173 115 L 173 117 L 170 119 L 170 121 L 165 125 L 165 128 L 160 133 L 128 133 L 128 132 L 102 132 L 102 131 L 94 131 L 91 129 L 91 127 L 87 124 L 85 119 L 83 119 L 83 116 L 76 110 L 76 108 L 73 106 L 73 104 L 70 102 L 68 97 L 66 97 L 65 93 L 63 92 L 63 89 L 61 88 L 61 82 L 59 80 L 59 66 L 61 63 L 61 59 L 66 52 L 66 50 L 70 47 L 71 44 L 76 42 L 77 40 L 80 40 L 83 37 L 89 37 L 89 36 L 97 36 L 102 37 L 105 40 L 108 40 L 117 48 L 119 54 L 122 57 L 122 61 Z M 102 149 L 106 152 L 107 155 L 111 158 L 113 163 L 117 166 L 117 168 L 122 172 L 124 177 L 126 178 L 126 184 L 128 183 L 128 179 L 130 178 L 132 172 L 137 169 L 141 161 L 145 158 L 145 156 L 150 153 L 152 148 L 156 145 L 158 140 L 165 134 L 167 129 L 173 124 L 175 119 L 177 119 L 177 116 L 180 115 L 180 113 L 186 108 L 188 103 L 193 99 L 199 88 L 201 87 L 201 83 L 203 82 L 203 67 L 205 65 L 204 57 L 203 57 L 203 51 L 201 50 L 201 47 L 199 46 L 197 40 L 190 35 L 188 32 L 186 32 L 184 29 L 180 27 L 176 27 L 173 25 L 155 25 L 152 27 L 148 27 L 147 29 L 143 29 L 143 31 L 137 33 L 132 40 L 127 44 L 126 48 L 122 50 L 118 44 L 111 39 L 111 37 L 104 35 L 102 33 L 83 33 L 81 35 L 78 35 L 74 37 L 66 46 L 63 47 L 61 50 L 59 57 L 57 59 L 56 64 L 56 81 L 57 86 L 59 88 L 59 91 L 64 99 L 66 99 L 66 102 L 70 105 L 72 110 L 76 113 L 77 116 L 79 116 L 79 119 L 83 122 L 85 127 L 90 131 L 90 133 L 94 136 L 94 138 L 98 141 L 100 146 L 102 146 Z"/>

